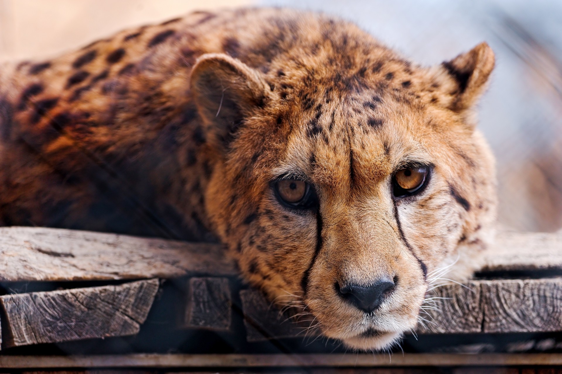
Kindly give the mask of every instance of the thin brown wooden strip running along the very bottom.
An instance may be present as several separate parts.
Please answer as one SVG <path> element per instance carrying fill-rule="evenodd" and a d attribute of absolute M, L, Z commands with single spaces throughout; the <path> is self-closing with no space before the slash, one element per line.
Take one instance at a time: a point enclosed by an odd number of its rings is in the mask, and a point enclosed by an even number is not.
<path fill-rule="evenodd" d="M 2 368 L 401 367 L 562 365 L 559 353 L 0 355 Z"/>

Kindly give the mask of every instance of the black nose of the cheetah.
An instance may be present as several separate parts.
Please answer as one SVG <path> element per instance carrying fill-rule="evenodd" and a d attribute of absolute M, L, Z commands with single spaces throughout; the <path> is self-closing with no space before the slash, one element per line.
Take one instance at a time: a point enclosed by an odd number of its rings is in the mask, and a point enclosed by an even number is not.
<path fill-rule="evenodd" d="M 373 312 L 382 303 L 382 295 L 394 287 L 394 282 L 382 278 L 370 286 L 346 285 L 337 289 L 344 299 L 366 313 Z"/>

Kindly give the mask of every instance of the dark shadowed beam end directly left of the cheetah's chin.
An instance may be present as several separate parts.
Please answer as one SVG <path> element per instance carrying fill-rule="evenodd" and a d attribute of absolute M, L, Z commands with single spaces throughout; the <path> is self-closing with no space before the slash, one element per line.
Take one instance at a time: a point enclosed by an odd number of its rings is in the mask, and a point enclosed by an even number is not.
<path fill-rule="evenodd" d="M 318 336 L 319 334 L 319 331 L 307 330 L 310 322 L 295 320 L 289 311 L 281 312 L 258 290 L 242 290 L 240 298 L 248 341 Z"/>

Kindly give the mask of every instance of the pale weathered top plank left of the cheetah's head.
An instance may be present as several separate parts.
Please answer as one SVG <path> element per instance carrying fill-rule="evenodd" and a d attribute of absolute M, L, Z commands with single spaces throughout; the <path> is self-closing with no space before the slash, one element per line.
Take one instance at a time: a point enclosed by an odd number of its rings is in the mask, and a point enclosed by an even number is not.
<path fill-rule="evenodd" d="M 221 245 L 40 227 L 0 228 L 0 281 L 237 274 Z"/>

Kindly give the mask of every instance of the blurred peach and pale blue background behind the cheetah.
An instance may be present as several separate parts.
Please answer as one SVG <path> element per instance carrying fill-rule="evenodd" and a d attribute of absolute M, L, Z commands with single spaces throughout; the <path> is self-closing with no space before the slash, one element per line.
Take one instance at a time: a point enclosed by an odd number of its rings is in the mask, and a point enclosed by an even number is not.
<path fill-rule="evenodd" d="M 357 22 L 425 65 L 486 40 L 497 56 L 480 128 L 497 157 L 500 222 L 562 227 L 562 2 L 558 0 L 0 0 L 0 61 L 56 55 L 192 10 L 320 10 Z"/>

